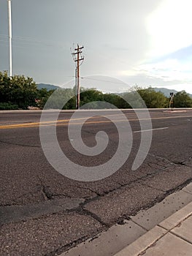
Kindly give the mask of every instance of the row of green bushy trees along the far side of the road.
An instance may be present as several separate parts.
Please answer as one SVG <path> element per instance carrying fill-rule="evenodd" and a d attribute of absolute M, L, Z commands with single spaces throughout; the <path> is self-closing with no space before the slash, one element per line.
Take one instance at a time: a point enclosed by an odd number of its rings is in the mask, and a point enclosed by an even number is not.
<path fill-rule="evenodd" d="M 47 102 L 47 99 L 48 102 Z M 47 104 L 46 104 L 47 102 Z M 66 104 L 64 105 L 64 102 Z M 110 103 L 107 105 L 105 102 Z M 63 106 L 64 105 L 64 106 Z M 7 72 L 0 72 L 0 110 L 28 109 L 75 109 L 75 88 L 37 89 L 33 78 L 14 75 L 9 78 Z M 81 88 L 80 107 L 82 108 L 169 108 L 169 98 L 152 88 L 134 88 L 122 94 L 104 94 L 96 89 Z M 192 98 L 185 91 L 174 95 L 174 108 L 192 108 Z"/>

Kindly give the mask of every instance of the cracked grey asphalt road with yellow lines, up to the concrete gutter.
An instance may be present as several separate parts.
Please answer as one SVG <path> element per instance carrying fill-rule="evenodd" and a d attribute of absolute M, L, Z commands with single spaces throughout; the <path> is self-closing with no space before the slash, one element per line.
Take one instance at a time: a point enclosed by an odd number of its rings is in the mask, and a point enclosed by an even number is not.
<path fill-rule="evenodd" d="M 93 117 L 85 121 L 87 113 Z M 122 115 L 116 110 L 80 111 L 77 117 L 72 114 L 72 111 L 63 111 L 55 122 L 52 111 L 43 120 L 41 129 L 46 141 L 42 141 L 50 148 L 53 158 L 58 156 L 53 150 L 54 128 L 62 151 L 76 165 L 99 168 L 113 159 L 120 135 L 110 118 L 119 125 L 123 143 L 128 144 L 131 153 L 112 176 L 98 181 L 76 181 L 55 170 L 45 157 L 39 138 L 40 111 L 1 112 L 2 256 L 59 255 L 101 230 L 123 222 L 131 214 L 153 206 L 192 180 L 192 110 L 150 110 L 150 118 L 145 110 L 138 110 L 139 120 L 133 110 L 124 110 Z M 124 115 L 128 120 L 123 119 Z M 72 124 L 69 124 L 71 117 Z M 143 129 L 150 127 L 150 121 L 151 129 Z M 107 133 L 107 148 L 99 155 L 83 155 L 72 147 L 71 143 L 80 146 L 76 132 L 80 125 L 81 138 L 90 151 L 96 146 L 97 132 Z M 70 138 L 69 127 L 73 132 Z M 147 157 L 137 170 L 131 170 L 141 136 L 148 138 L 150 132 L 153 139 Z M 104 138 L 100 133 L 98 142 Z M 146 148 L 142 148 L 143 154 L 145 149 L 147 151 L 147 143 Z M 59 163 L 60 159 L 55 162 Z M 68 174 L 75 171 L 74 165 L 69 167 L 64 162 L 62 169 Z"/>

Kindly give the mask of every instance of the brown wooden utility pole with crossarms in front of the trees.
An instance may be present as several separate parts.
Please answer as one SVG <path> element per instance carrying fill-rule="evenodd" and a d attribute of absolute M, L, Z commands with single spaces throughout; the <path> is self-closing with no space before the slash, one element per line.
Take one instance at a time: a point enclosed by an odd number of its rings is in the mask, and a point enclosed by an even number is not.
<path fill-rule="evenodd" d="M 76 63 L 76 72 L 75 72 L 75 77 L 77 80 L 76 86 L 77 86 L 77 101 L 76 101 L 76 108 L 80 109 L 80 65 L 82 64 L 82 61 L 84 60 L 84 57 L 81 56 L 82 49 L 84 47 L 80 47 L 77 44 L 77 48 L 75 48 L 75 52 L 72 53 L 72 56 L 74 57 L 74 62 Z"/>

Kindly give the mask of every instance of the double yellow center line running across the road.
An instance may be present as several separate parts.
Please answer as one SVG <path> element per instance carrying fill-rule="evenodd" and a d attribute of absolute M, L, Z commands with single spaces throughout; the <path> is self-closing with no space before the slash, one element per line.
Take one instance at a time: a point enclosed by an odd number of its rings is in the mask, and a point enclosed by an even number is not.
<path fill-rule="evenodd" d="M 109 116 L 123 116 L 121 115 L 109 115 Z M 101 118 L 102 116 L 93 116 L 90 118 Z M 107 116 L 104 116 L 107 117 Z M 133 119 L 119 119 L 114 120 L 114 122 L 124 122 L 124 121 L 147 121 L 147 120 L 158 120 L 158 119 L 171 119 L 171 118 L 189 118 L 192 116 L 164 116 L 164 117 L 155 117 L 155 118 L 133 118 Z M 103 121 L 86 121 L 86 122 L 72 122 L 72 121 L 78 121 L 83 120 L 87 118 L 74 118 L 74 119 L 64 119 L 64 120 L 58 120 L 58 121 L 44 121 L 44 122 L 37 122 L 37 123 L 28 123 L 28 124 L 10 124 L 10 125 L 4 125 L 0 126 L 0 129 L 14 129 L 14 128 L 30 128 L 30 127 L 39 127 L 39 125 L 42 126 L 64 126 L 64 125 L 77 125 L 77 124 L 104 124 L 104 123 L 112 123 L 112 120 L 103 120 Z M 70 121 L 70 123 L 66 123 L 67 121 Z M 59 124 L 58 124 L 59 122 Z M 64 122 L 61 124 L 61 122 Z"/>

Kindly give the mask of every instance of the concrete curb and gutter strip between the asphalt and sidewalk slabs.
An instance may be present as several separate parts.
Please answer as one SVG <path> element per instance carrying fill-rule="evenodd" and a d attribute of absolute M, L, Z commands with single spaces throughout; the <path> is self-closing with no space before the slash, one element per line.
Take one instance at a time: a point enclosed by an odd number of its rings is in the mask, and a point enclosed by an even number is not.
<path fill-rule="evenodd" d="M 118 255 L 123 249 L 129 248 L 132 244 L 137 243 L 138 239 L 141 239 L 138 245 L 140 246 L 140 252 L 143 248 L 145 249 L 147 246 L 154 244 L 155 241 L 159 241 L 169 233 L 169 230 L 166 230 L 163 226 L 160 227 L 165 221 L 172 223 L 172 216 L 176 216 L 178 219 L 177 222 L 180 222 L 183 216 L 188 216 L 185 206 L 188 206 L 191 201 L 192 183 L 188 184 L 182 190 L 168 195 L 153 207 L 139 211 L 135 216 L 130 216 L 130 219 L 124 221 L 124 225 L 113 225 L 109 230 L 99 233 L 98 236 L 89 238 L 81 244 L 63 252 L 61 256 Z M 173 215 L 174 213 L 176 215 Z M 138 250 L 136 249 L 132 247 L 131 252 L 125 252 L 125 255 L 138 255 Z"/>

